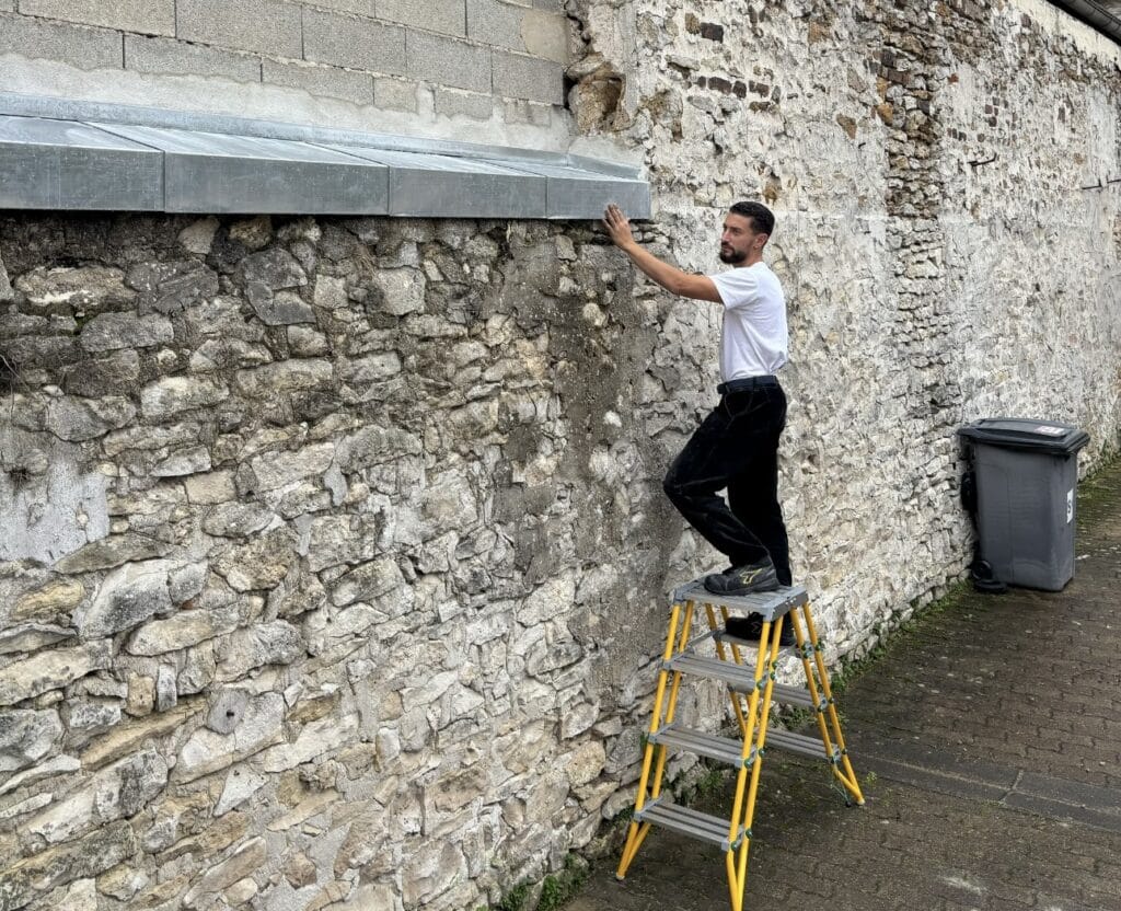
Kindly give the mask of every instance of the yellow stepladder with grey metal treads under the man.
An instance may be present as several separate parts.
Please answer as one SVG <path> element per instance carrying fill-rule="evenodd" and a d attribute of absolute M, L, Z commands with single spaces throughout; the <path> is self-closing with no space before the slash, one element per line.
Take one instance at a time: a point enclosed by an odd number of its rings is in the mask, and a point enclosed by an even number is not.
<path fill-rule="evenodd" d="M 705 609 L 708 632 L 691 638 L 697 605 Z M 731 611 L 760 615 L 762 631 L 758 645 L 753 641 L 748 643 L 728 634 L 725 626 Z M 787 618 L 794 628 L 794 651 L 800 657 L 806 674 L 805 688 L 775 682 L 779 638 Z M 715 646 L 714 657 L 703 656 L 700 652 L 708 641 Z M 748 644 L 757 650 L 753 669 L 743 661 L 741 650 Z M 677 694 L 685 674 L 721 680 L 728 685 L 732 711 L 739 725 L 739 740 L 694 730 L 675 719 Z M 813 709 L 821 736 L 808 737 L 768 727 L 770 707 L 776 701 Z M 732 911 L 743 911 L 751 826 L 759 795 L 759 773 L 763 754 L 770 747 L 803 756 L 824 756 L 833 774 L 844 786 L 849 795 L 847 802 L 858 806 L 864 803 L 864 795 L 844 745 L 841 719 L 833 703 L 822 644 L 805 588 L 784 587 L 776 591 L 728 597 L 713 595 L 700 581 L 683 586 L 674 592 L 666 647 L 658 672 L 654 717 L 647 734 L 642 772 L 634 800 L 634 816 L 615 876 L 622 880 L 627 875 L 650 828 L 661 826 L 721 847 L 728 868 Z M 666 757 L 670 749 L 695 753 L 728 763 L 738 770 L 735 798 L 729 819 L 682 807 L 661 793 Z"/>

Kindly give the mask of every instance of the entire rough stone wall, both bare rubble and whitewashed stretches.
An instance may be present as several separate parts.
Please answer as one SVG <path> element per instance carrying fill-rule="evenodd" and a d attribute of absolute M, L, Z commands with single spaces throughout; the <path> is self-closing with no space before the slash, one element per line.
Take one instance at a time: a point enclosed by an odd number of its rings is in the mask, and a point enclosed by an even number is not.
<path fill-rule="evenodd" d="M 657 251 L 778 212 L 793 556 L 859 653 L 963 571 L 958 424 L 1117 449 L 1117 48 L 1034 0 L 568 12 Z M 585 224 L 8 213 L 0 263 L 0 911 L 471 909 L 630 801 L 712 309 Z"/>

